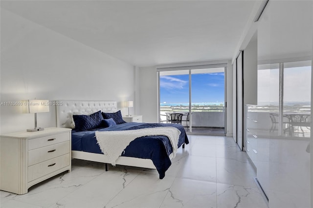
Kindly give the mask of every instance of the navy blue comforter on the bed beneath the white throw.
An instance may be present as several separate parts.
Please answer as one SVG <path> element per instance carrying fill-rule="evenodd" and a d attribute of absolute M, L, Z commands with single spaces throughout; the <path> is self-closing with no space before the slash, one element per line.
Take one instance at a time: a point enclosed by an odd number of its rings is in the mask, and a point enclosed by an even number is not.
<path fill-rule="evenodd" d="M 72 131 L 72 150 L 103 154 L 97 144 L 95 131 L 118 131 L 133 130 L 140 128 L 151 128 L 161 126 L 172 126 L 179 129 L 178 147 L 182 144 L 189 144 L 187 134 L 182 125 L 178 124 L 146 124 L 146 123 L 125 123 L 108 128 L 92 129 L 87 131 Z M 122 156 L 151 159 L 159 173 L 159 178 L 165 176 L 165 171 L 172 162 L 169 155 L 173 152 L 170 140 L 166 136 L 144 136 L 136 138 L 122 152 Z"/>

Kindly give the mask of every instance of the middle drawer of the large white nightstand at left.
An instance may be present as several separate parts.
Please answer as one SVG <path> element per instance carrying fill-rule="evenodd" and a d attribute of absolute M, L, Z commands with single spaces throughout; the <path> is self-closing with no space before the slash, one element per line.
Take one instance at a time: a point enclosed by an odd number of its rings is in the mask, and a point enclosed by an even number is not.
<path fill-rule="evenodd" d="M 28 151 L 28 166 L 69 153 L 69 141 Z"/>

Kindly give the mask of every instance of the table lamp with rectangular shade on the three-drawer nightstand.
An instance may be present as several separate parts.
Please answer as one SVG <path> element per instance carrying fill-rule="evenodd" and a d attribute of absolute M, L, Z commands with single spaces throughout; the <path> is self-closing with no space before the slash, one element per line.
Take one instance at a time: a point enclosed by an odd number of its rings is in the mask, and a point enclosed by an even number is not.
<path fill-rule="evenodd" d="M 37 127 L 37 113 L 49 112 L 48 100 L 22 100 L 23 113 L 35 113 L 35 128 L 27 129 L 27 131 L 42 131 L 45 128 Z"/>

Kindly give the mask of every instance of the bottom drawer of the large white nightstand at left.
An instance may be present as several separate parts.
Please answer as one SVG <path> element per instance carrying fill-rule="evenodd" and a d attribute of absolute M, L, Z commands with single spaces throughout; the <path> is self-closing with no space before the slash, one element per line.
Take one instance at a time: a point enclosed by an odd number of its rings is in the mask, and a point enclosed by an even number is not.
<path fill-rule="evenodd" d="M 28 167 L 28 182 L 69 166 L 69 153 Z"/>

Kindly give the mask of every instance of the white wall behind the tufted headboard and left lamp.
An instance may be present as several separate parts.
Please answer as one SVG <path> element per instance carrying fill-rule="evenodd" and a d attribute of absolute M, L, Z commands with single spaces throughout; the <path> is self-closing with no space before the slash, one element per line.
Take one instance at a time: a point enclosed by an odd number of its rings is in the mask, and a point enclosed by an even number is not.
<path fill-rule="evenodd" d="M 134 99 L 132 65 L 2 8 L 0 64 L 1 102 Z M 0 115 L 1 134 L 34 127 L 34 115 L 21 106 L 1 105 Z M 38 114 L 38 126 L 56 126 L 55 106 Z"/>

